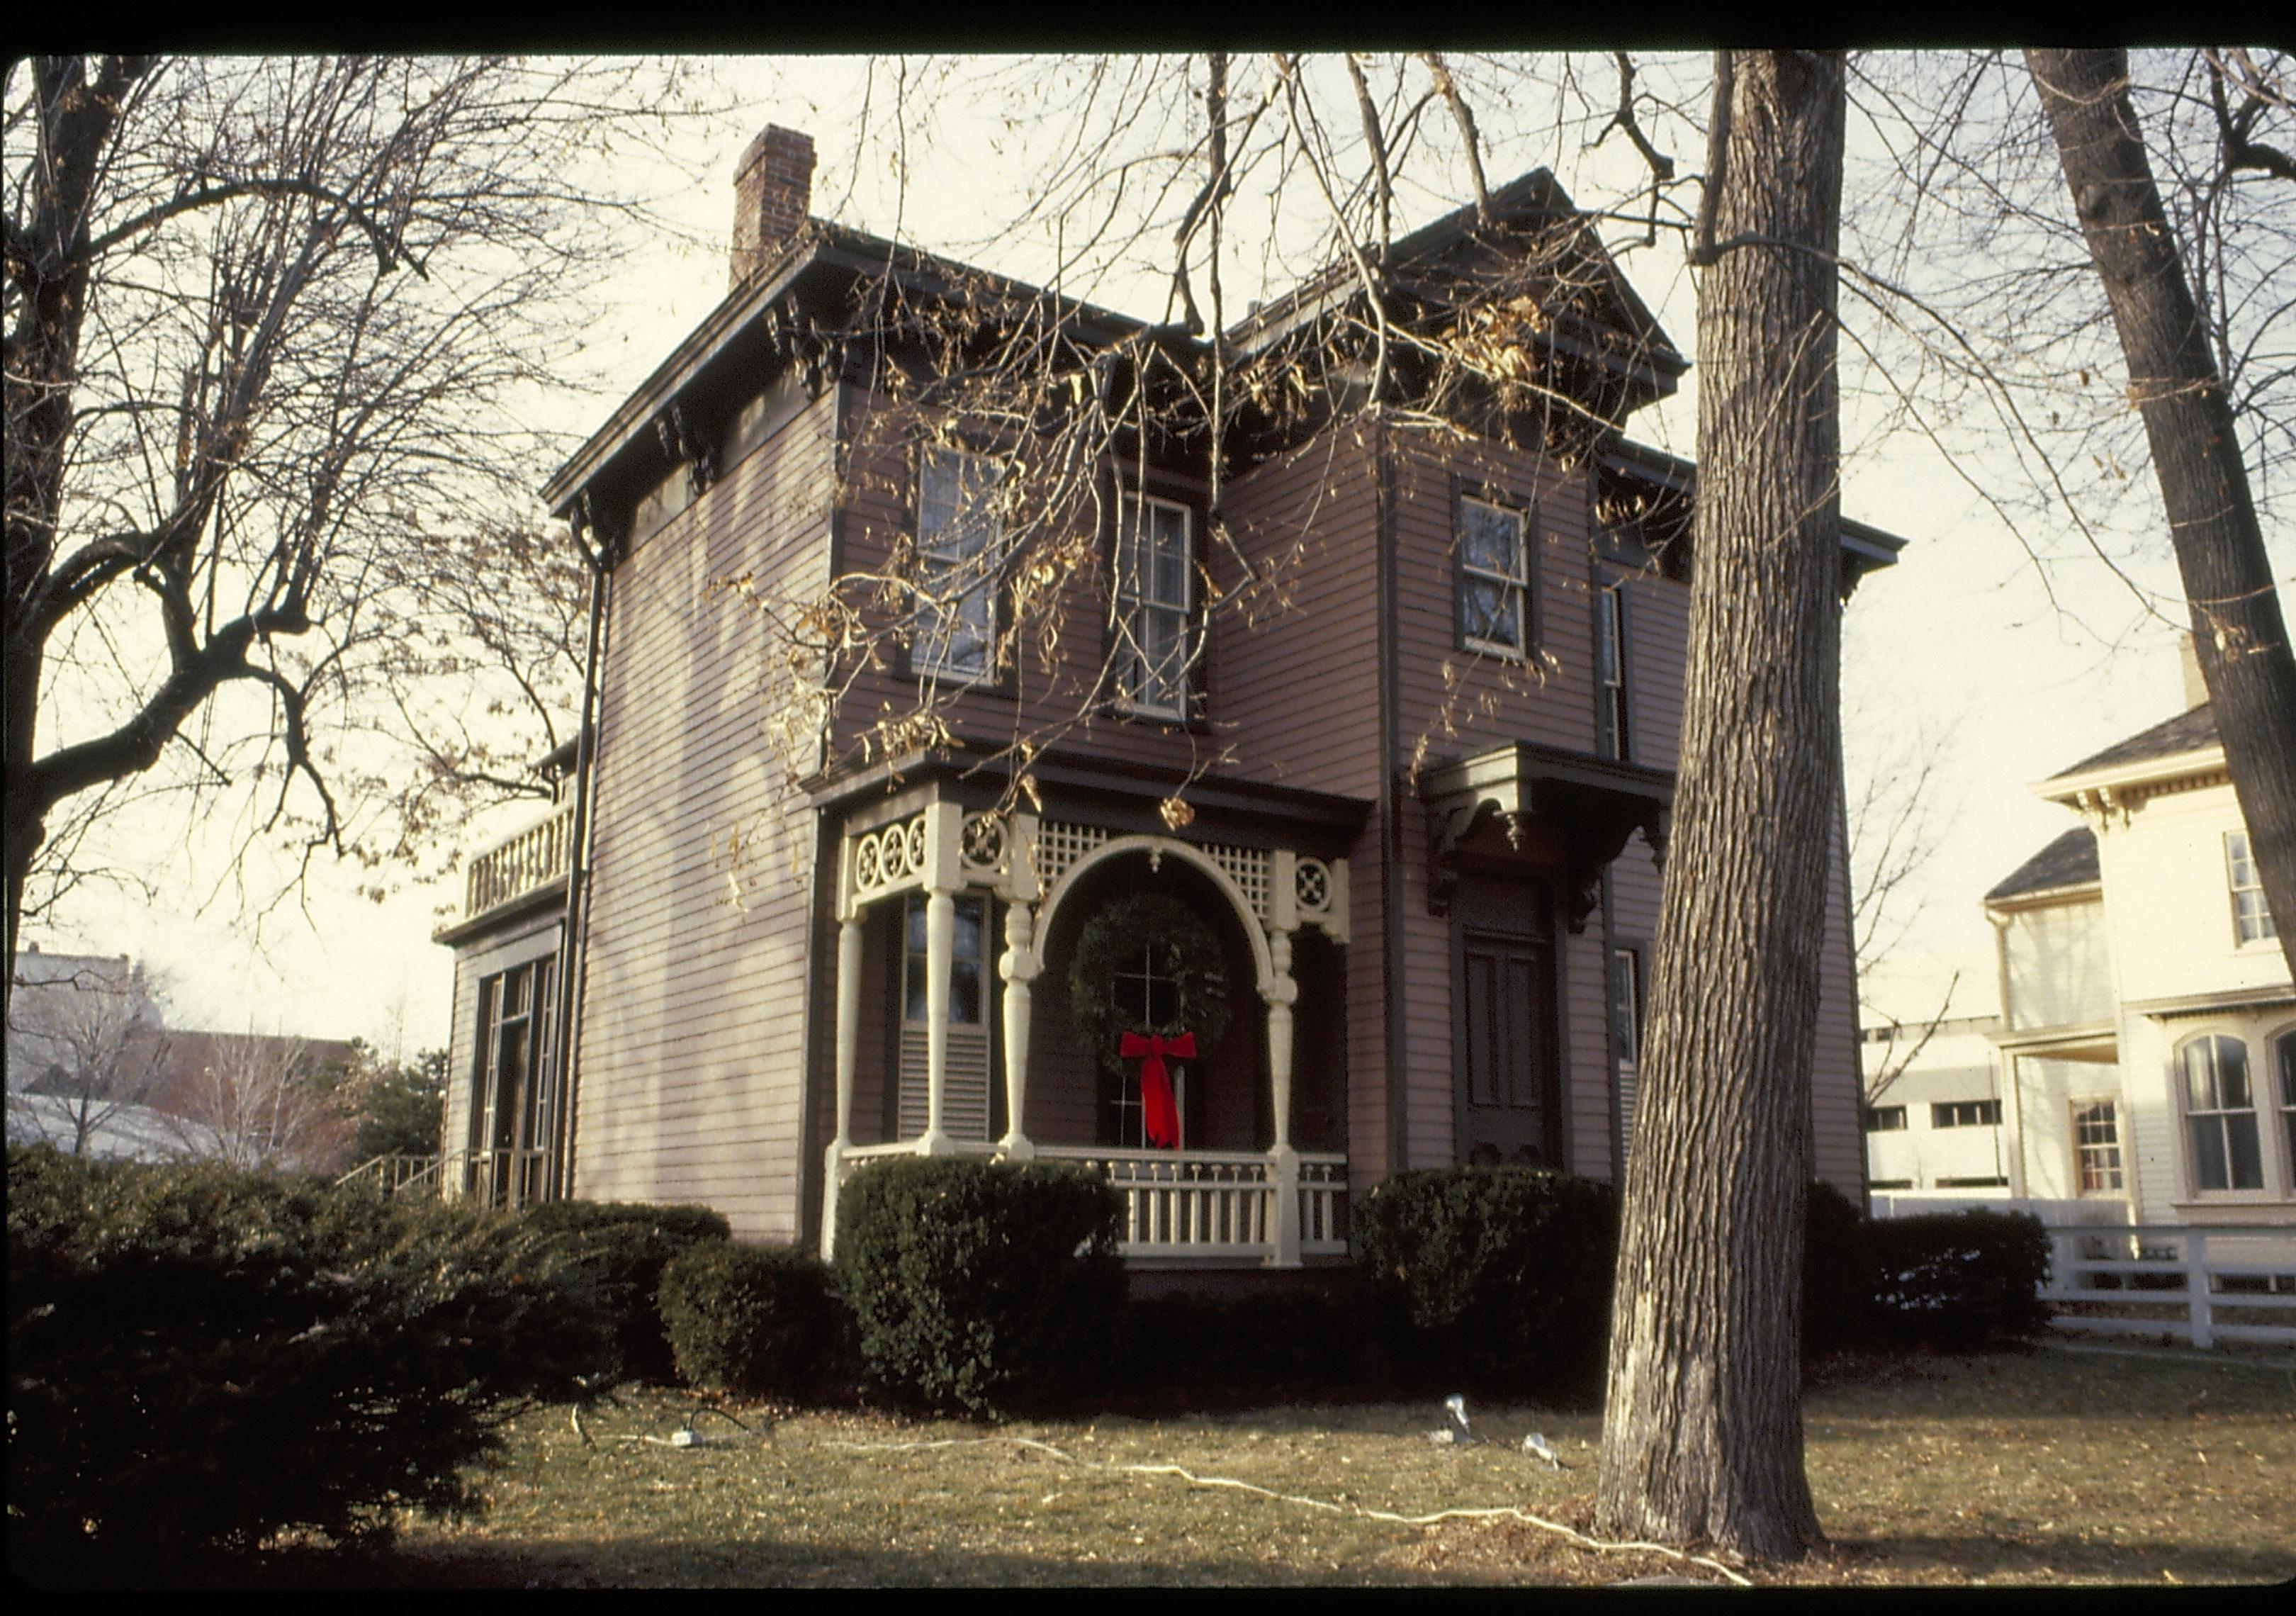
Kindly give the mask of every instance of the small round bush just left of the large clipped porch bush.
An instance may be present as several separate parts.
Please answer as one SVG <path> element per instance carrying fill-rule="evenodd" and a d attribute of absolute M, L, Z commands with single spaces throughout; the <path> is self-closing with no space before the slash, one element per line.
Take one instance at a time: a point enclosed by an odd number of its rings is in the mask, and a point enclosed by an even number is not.
<path fill-rule="evenodd" d="M 659 1299 L 691 1386 L 804 1398 L 845 1377 L 852 1320 L 817 1258 L 705 1242 L 670 1258 Z"/>

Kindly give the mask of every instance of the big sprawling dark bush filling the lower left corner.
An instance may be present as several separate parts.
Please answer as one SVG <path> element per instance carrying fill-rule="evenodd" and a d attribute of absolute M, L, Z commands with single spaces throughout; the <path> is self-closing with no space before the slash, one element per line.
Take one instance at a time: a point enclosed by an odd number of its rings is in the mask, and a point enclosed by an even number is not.
<path fill-rule="evenodd" d="M 216 1164 L 9 1148 L 9 1556 L 165 1579 L 296 1526 L 388 1536 L 604 1352 L 512 1217 Z"/>

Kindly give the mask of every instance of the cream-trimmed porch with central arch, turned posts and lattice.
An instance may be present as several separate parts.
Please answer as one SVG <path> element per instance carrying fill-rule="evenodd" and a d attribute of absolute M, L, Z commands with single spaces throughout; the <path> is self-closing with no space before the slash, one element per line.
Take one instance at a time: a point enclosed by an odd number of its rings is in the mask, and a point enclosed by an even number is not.
<path fill-rule="evenodd" d="M 1217 1058 L 1205 1051 L 1192 1070 L 1173 1060 L 1176 1145 L 1141 1139 L 1141 1090 L 1130 1100 L 1095 1093 L 1095 1051 L 1065 1024 L 1035 1017 L 1047 957 L 1075 943 L 1081 916 L 1107 902 L 1116 875 L 1176 881 L 1217 911 L 1233 966 L 1217 976 L 1256 989 L 1256 1017 L 1247 1019 L 1258 1026 L 1238 1026 Z M 1348 1157 L 1300 1148 L 1293 1081 L 1300 934 L 1316 932 L 1311 953 L 1336 960 L 1325 946 L 1345 943 L 1345 861 L 1300 849 L 1123 833 L 953 801 L 850 822 L 836 911 L 836 1139 L 822 1175 L 822 1256 L 836 1246 L 845 1182 L 902 1155 L 1075 1162 L 1104 1175 L 1123 1198 L 1132 1262 L 1300 1267 L 1345 1256 Z M 992 953 L 999 918 L 1003 950 Z M 1063 976 L 1056 969 L 1054 982 Z M 1143 980 L 1139 992 L 1146 1005 L 1155 987 Z M 1047 1063 L 1056 1093 L 1031 1097 L 1031 1077 Z M 863 1067 L 882 1102 L 863 1093 Z"/>

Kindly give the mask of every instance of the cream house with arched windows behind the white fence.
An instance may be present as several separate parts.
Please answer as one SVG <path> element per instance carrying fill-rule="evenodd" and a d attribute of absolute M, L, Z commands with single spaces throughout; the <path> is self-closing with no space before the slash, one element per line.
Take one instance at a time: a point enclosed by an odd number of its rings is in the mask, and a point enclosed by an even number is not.
<path fill-rule="evenodd" d="M 2296 1223 L 2296 987 L 2225 748 L 2186 712 L 2034 792 L 2078 813 L 1991 893 L 2011 1180 L 2133 1223 Z"/>

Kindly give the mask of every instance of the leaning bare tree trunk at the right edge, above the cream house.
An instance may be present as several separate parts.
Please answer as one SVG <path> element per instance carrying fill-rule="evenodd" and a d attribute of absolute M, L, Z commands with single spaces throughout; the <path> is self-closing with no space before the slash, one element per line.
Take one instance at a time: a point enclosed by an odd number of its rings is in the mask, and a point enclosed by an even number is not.
<path fill-rule="evenodd" d="M 2241 464 L 2232 399 L 2128 101 L 2128 53 L 2027 50 L 2025 67 L 2112 305 L 2232 794 L 2248 822 L 2280 953 L 2296 973 L 2296 654 Z"/>

